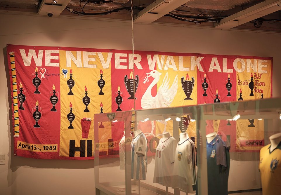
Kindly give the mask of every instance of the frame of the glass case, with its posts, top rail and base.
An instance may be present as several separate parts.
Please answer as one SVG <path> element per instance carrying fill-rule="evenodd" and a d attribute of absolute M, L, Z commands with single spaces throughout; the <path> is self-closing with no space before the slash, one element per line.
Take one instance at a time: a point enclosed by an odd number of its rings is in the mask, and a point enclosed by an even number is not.
<path fill-rule="evenodd" d="M 125 111 L 115 113 L 114 120 L 123 121 L 125 126 L 125 136 L 130 136 L 132 115 L 136 116 L 135 121 L 144 121 L 149 118 L 151 121 L 164 120 L 170 117 L 173 121 L 173 137 L 178 141 L 179 127 L 176 117 L 183 115 L 190 115 L 192 119 L 196 120 L 196 137 L 197 137 L 197 194 L 208 194 L 208 181 L 207 181 L 207 152 L 206 152 L 206 120 L 228 120 L 232 119 L 235 115 L 240 114 L 240 119 L 263 119 L 264 122 L 264 137 L 265 140 L 273 133 L 281 132 L 281 120 L 279 116 L 281 113 L 281 98 L 263 99 L 263 100 L 249 100 L 239 102 L 223 102 L 215 104 L 203 104 L 184 107 L 173 108 L 158 108 L 149 110 L 136 110 Z M 95 114 L 94 117 L 94 139 L 95 139 L 95 187 L 96 194 L 102 194 L 103 191 L 106 194 L 119 194 L 112 190 L 110 186 L 114 186 L 117 183 L 114 182 L 100 182 L 99 168 L 101 165 L 101 159 L 106 164 L 106 156 L 99 155 L 99 136 L 98 127 L 99 122 L 111 122 L 108 114 Z M 277 126 L 273 131 L 268 132 L 268 124 L 271 120 L 278 119 Z M 276 123 L 276 120 L 275 120 Z M 267 144 L 268 141 L 265 141 Z M 130 151 L 130 144 L 126 145 L 126 151 Z M 117 157 L 117 155 L 111 155 Z M 148 189 L 157 194 L 180 194 L 176 189 L 174 193 L 167 192 L 163 189 L 155 188 L 149 184 L 131 180 L 131 154 L 126 152 L 126 168 L 125 168 L 125 194 L 132 194 L 132 185 L 137 185 L 138 188 L 142 187 Z M 120 184 L 120 183 L 119 183 Z"/>

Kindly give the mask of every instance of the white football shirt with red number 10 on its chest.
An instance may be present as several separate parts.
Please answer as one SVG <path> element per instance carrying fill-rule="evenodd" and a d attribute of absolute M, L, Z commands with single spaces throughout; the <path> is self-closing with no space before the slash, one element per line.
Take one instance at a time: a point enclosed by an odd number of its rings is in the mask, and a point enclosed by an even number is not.
<path fill-rule="evenodd" d="M 173 175 L 175 150 L 177 141 L 174 137 L 159 140 L 155 153 L 155 169 L 153 183 L 162 184 L 163 186 L 172 187 L 171 176 Z"/>

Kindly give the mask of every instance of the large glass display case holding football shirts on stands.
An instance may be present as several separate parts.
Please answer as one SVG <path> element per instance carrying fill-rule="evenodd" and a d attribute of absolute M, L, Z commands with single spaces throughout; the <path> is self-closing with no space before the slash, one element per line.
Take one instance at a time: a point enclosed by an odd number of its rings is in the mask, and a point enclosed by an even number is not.
<path fill-rule="evenodd" d="M 95 114 L 96 194 L 261 194 L 280 113 L 273 98 Z"/>

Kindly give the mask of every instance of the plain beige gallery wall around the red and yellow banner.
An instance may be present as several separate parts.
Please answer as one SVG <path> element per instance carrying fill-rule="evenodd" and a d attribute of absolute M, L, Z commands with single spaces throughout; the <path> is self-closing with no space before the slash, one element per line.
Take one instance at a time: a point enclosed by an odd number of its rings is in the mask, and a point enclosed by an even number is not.
<path fill-rule="evenodd" d="M 0 13 L 0 47 L 6 44 L 131 49 L 131 24 L 64 17 Z M 281 34 L 202 29 L 187 26 L 134 26 L 135 49 L 221 55 L 273 57 L 273 97 L 281 96 Z M 13 157 L 6 53 L 0 53 L 0 194 L 94 194 L 94 161 Z M 55 191 L 55 193 L 54 193 Z"/>

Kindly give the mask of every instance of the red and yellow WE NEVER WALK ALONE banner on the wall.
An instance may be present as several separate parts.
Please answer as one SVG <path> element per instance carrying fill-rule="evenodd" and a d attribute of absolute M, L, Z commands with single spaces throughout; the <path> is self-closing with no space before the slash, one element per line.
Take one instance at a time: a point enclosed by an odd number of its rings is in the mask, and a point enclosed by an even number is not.
<path fill-rule="evenodd" d="M 272 97 L 272 58 L 136 51 L 133 78 L 131 51 L 20 45 L 7 45 L 7 51 L 18 156 L 93 159 L 89 118 L 131 110 L 133 82 L 136 109 Z M 187 132 L 195 140 L 196 124 L 189 120 Z M 153 153 L 172 123 L 141 123 Z M 100 152 L 118 154 L 124 124 L 99 127 Z M 222 135 L 231 151 L 264 145 L 263 120 L 206 121 L 206 130 Z"/>

